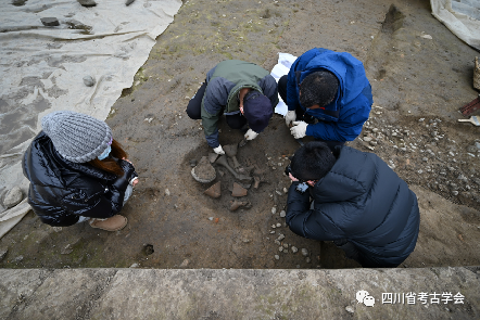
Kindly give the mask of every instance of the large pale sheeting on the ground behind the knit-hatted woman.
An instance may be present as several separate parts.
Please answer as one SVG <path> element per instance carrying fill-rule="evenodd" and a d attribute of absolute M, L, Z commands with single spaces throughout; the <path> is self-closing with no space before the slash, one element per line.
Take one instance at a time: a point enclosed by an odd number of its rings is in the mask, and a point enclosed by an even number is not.
<path fill-rule="evenodd" d="M 0 193 L 14 185 L 27 192 L 21 159 L 45 114 L 72 110 L 106 118 L 181 7 L 180 0 L 97 3 L 0 0 Z M 42 17 L 60 26 L 43 26 Z M 85 76 L 96 85 L 85 86 Z M 0 238 L 24 206 L 0 214 Z"/>

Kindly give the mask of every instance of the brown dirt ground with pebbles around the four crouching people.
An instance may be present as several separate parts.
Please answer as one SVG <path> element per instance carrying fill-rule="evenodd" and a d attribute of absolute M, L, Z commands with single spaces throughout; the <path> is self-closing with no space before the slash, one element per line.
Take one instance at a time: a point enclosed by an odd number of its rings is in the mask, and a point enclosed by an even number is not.
<path fill-rule="evenodd" d="M 59 229 L 29 213 L 0 240 L 0 267 L 359 267 L 332 243 L 286 227 L 283 169 L 299 144 L 281 116 L 238 151 L 267 181 L 249 189 L 250 209 L 229 210 L 233 179 L 226 169 L 217 167 L 207 184 L 190 175 L 191 161 L 211 152 L 201 123 L 185 113 L 206 72 L 226 59 L 271 69 L 278 52 L 314 47 L 364 62 L 375 103 L 348 145 L 378 154 L 419 199 L 420 235 L 402 267 L 479 265 L 480 127 L 457 123 L 458 108 L 478 95 L 479 52 L 430 14 L 428 0 L 193 0 L 184 1 L 106 120 L 140 176 L 123 210 L 128 226 L 112 233 L 86 223 Z M 242 139 L 225 121 L 220 129 L 224 145 Z M 203 194 L 217 181 L 220 197 Z"/>

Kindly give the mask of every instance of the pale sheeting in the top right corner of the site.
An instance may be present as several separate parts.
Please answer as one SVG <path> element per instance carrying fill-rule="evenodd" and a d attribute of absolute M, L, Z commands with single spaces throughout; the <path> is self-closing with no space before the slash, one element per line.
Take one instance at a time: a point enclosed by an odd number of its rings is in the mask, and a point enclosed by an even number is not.
<path fill-rule="evenodd" d="M 480 50 L 480 0 L 430 0 L 430 4 L 434 17 Z"/>

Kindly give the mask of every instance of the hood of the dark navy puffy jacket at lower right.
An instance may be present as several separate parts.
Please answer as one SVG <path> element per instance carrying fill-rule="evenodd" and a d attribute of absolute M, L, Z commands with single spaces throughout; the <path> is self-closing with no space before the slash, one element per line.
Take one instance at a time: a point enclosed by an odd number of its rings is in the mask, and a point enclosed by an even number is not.
<path fill-rule="evenodd" d="M 363 196 L 370 189 L 374 181 L 371 172 L 375 171 L 375 163 L 367 155 L 350 146 L 341 148 L 331 170 L 314 185 L 314 200 L 334 203 Z M 356 165 L 352 166 L 352 163 Z"/>

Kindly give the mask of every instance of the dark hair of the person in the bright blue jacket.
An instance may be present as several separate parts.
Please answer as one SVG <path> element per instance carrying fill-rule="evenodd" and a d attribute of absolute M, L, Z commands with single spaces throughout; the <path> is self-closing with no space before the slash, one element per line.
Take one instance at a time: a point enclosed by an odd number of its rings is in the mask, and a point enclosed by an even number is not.
<path fill-rule="evenodd" d="M 339 79 L 330 72 L 310 74 L 300 84 L 300 103 L 304 107 L 318 104 L 320 107 L 329 104 L 339 90 Z"/>

